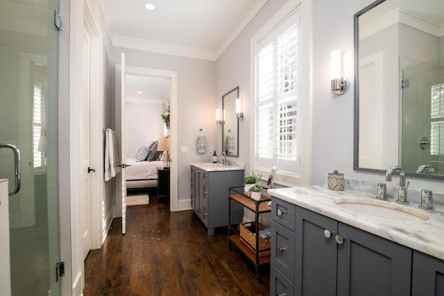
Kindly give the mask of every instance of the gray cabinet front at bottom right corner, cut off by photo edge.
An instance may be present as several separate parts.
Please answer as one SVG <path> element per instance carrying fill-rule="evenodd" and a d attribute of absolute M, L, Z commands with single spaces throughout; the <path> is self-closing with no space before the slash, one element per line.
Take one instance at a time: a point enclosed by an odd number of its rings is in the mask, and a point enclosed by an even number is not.
<path fill-rule="evenodd" d="M 413 251 L 412 296 L 444 295 L 444 261 Z"/>

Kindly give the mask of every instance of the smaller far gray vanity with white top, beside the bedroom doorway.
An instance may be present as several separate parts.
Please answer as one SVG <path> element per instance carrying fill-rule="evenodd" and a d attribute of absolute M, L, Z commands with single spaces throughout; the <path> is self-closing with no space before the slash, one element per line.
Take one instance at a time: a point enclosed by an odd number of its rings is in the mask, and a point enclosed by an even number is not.
<path fill-rule="evenodd" d="M 191 163 L 191 208 L 205 224 L 208 235 L 228 226 L 228 188 L 244 186 L 244 167 L 221 163 Z M 244 207 L 233 206 L 231 221 L 239 224 Z"/>

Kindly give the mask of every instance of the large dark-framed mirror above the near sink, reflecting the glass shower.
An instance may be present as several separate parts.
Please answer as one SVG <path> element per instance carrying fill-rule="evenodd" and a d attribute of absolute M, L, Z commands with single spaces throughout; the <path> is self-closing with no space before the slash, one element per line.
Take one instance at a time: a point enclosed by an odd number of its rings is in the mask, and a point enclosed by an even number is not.
<path fill-rule="evenodd" d="M 444 1 L 355 14 L 354 170 L 444 179 Z"/>

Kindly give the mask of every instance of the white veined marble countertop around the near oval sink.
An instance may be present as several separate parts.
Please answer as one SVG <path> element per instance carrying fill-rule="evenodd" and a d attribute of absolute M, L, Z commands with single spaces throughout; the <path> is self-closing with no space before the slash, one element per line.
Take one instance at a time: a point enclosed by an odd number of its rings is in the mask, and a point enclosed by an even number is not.
<path fill-rule="evenodd" d="M 436 206 L 435 200 L 435 210 L 425 211 L 418 209 L 419 197 L 410 197 L 410 204 L 399 206 L 414 208 L 415 211 L 416 209 L 424 211 L 430 215 L 430 219 L 427 221 L 402 221 L 355 213 L 334 203 L 334 199 L 344 197 L 368 199 L 371 202 L 370 199 L 376 200 L 373 192 L 363 192 L 347 187 L 344 190 L 334 191 L 327 189 L 327 185 L 319 185 L 269 189 L 268 194 L 444 260 L 444 206 L 441 204 Z M 418 199 L 418 203 L 416 203 L 416 199 Z M 395 203 L 395 199 L 391 197 L 388 198 L 388 201 Z"/>

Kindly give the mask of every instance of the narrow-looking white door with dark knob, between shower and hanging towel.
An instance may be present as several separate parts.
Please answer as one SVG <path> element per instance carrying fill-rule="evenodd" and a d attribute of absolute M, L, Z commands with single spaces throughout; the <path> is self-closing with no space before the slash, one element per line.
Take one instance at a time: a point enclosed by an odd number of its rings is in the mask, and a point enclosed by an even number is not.
<path fill-rule="evenodd" d="M 83 259 L 86 258 L 91 249 L 91 210 L 90 210 L 90 180 L 89 180 L 89 122 L 90 122 L 90 49 L 91 38 L 87 29 L 83 30 L 83 62 L 82 62 L 82 112 L 80 113 L 80 131 L 82 135 L 81 162 L 82 162 L 82 237 L 83 237 Z"/>

